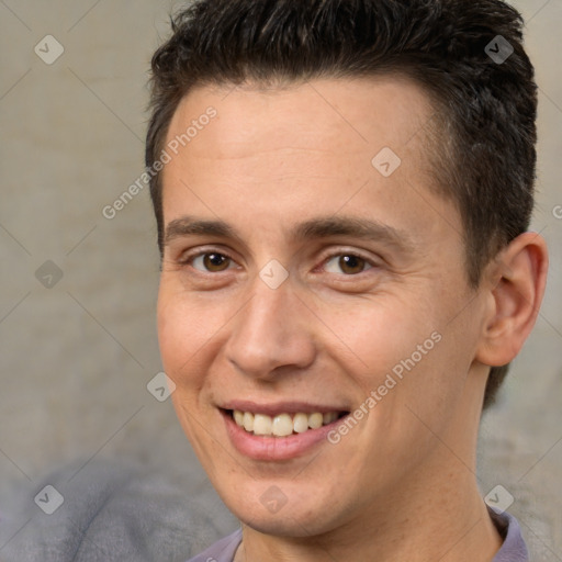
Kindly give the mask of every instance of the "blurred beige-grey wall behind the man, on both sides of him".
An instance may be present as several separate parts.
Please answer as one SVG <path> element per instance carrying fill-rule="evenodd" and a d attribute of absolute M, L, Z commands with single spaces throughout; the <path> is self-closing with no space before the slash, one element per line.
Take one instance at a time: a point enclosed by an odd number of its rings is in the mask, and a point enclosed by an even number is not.
<path fill-rule="evenodd" d="M 180 3 L 0 0 L 4 491 L 33 490 L 77 460 L 122 457 L 222 510 L 171 404 L 146 389 L 160 371 L 147 190 L 113 220 L 102 215 L 143 171 L 148 61 Z M 515 5 L 540 87 L 533 227 L 549 243 L 551 269 L 535 333 L 484 417 L 479 476 L 483 494 L 502 484 L 515 497 L 509 510 L 536 560 L 562 561 L 562 2 Z M 34 52 L 47 34 L 65 48 L 52 65 Z M 36 274 L 47 260 L 63 273 L 52 288 Z M 43 278 L 54 273 L 43 267 Z"/>

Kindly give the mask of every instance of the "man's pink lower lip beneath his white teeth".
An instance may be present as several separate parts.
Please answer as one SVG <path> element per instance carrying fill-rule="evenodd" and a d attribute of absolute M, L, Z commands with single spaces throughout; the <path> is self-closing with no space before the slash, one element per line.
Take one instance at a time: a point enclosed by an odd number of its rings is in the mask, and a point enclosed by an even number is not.
<path fill-rule="evenodd" d="M 231 442 L 241 454 L 259 461 L 284 461 L 296 459 L 310 452 L 313 448 L 327 440 L 328 432 L 340 425 L 345 418 L 336 419 L 331 424 L 307 429 L 303 434 L 293 434 L 288 437 L 269 437 L 254 435 L 236 424 L 231 414 L 221 411 L 225 420 L 226 432 Z"/>

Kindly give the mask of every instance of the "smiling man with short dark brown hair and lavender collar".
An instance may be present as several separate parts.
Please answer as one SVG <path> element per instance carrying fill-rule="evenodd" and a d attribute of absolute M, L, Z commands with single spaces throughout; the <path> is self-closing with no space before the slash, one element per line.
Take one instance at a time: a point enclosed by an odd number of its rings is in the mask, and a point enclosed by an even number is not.
<path fill-rule="evenodd" d="M 178 418 L 241 531 L 193 561 L 524 561 L 475 477 L 532 328 L 536 86 L 501 0 L 201 0 L 146 162 Z"/>

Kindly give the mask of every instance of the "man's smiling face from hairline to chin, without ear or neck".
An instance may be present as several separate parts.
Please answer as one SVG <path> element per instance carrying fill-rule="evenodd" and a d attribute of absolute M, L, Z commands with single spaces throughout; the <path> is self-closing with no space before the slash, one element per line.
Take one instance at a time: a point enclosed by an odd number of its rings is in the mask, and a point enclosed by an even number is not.
<path fill-rule="evenodd" d="M 468 471 L 484 303 L 431 186 L 426 95 L 391 78 L 201 88 L 167 142 L 209 106 L 164 171 L 158 328 L 179 420 L 227 506 L 308 536 Z"/>

